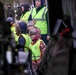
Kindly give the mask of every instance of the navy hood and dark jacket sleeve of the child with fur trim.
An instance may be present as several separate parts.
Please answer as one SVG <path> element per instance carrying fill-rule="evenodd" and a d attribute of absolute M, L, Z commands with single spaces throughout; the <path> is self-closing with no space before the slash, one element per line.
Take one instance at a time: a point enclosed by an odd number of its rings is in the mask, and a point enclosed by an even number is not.
<path fill-rule="evenodd" d="M 21 34 L 26 34 L 27 33 L 27 25 L 24 22 L 20 22 L 19 23 L 20 29 L 21 29 Z M 20 35 L 19 39 L 18 39 L 18 47 L 19 47 L 19 51 L 24 51 L 24 46 L 26 44 L 26 40 L 25 38 Z"/>

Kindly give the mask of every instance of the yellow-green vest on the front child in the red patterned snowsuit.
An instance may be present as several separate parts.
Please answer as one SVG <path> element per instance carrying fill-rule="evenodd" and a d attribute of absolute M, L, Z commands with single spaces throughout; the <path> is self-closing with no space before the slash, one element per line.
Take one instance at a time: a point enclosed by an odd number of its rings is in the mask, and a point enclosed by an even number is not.
<path fill-rule="evenodd" d="M 40 42 L 42 40 L 38 40 L 35 44 L 30 44 L 29 49 L 32 51 L 32 60 L 39 60 L 41 57 L 40 51 Z"/>

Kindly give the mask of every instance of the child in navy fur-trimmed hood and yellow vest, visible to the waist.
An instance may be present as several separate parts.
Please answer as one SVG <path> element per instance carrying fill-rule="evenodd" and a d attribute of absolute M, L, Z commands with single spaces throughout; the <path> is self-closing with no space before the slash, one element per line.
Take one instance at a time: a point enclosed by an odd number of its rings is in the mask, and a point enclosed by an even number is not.
<path fill-rule="evenodd" d="M 18 51 L 28 52 L 31 38 L 27 35 L 27 24 L 25 22 L 16 23 L 16 34 L 18 37 Z"/>

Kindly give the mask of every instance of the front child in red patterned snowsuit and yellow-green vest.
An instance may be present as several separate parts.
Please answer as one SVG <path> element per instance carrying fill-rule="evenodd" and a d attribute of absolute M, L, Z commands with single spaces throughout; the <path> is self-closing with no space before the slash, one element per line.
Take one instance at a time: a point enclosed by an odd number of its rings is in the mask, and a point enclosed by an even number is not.
<path fill-rule="evenodd" d="M 33 28 L 29 34 L 32 38 L 32 42 L 29 45 L 29 49 L 32 51 L 32 69 L 37 69 L 46 49 L 46 44 L 41 39 L 40 30 L 38 28 Z"/>

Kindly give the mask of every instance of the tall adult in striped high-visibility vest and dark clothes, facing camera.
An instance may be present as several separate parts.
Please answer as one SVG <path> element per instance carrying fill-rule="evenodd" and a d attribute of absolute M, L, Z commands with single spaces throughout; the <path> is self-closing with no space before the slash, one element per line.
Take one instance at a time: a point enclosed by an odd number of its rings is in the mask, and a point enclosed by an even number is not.
<path fill-rule="evenodd" d="M 30 20 L 35 20 L 35 26 L 41 30 L 42 40 L 47 44 L 47 36 L 49 34 L 48 26 L 48 10 L 44 6 L 43 0 L 35 0 L 35 7 L 31 10 Z"/>

